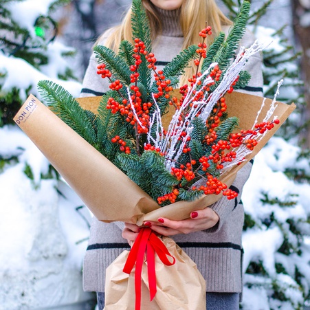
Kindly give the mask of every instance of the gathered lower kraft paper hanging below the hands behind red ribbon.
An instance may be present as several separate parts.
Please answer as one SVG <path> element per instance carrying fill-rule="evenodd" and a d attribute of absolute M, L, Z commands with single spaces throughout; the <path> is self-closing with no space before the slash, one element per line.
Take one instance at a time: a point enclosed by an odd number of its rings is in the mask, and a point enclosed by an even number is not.
<path fill-rule="evenodd" d="M 197 265 L 170 238 L 163 237 L 168 252 L 175 258 L 172 266 L 164 265 L 155 255 L 157 293 L 150 301 L 147 262 L 142 269 L 141 309 L 206 310 L 206 281 Z M 124 251 L 107 268 L 104 310 L 135 309 L 135 273 L 122 272 L 129 251 Z"/>

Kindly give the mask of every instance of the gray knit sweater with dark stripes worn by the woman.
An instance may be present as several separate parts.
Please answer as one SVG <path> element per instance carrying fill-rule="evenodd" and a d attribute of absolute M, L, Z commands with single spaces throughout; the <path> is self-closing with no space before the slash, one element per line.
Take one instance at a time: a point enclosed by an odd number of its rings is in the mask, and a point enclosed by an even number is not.
<path fill-rule="evenodd" d="M 162 35 L 153 44 L 153 53 L 162 65 L 168 63 L 181 51 L 183 37 L 175 22 L 175 11 L 162 11 L 164 29 Z M 228 32 L 228 29 L 224 28 Z M 243 37 L 241 45 L 248 47 L 254 42 L 250 32 Z M 100 44 L 104 44 L 104 39 Z M 108 89 L 107 79 L 96 74 L 97 61 L 94 55 L 89 60 L 81 96 L 100 96 Z M 247 63 L 245 69 L 252 78 L 250 84 L 241 90 L 256 96 L 262 96 L 263 77 L 261 55 L 256 54 Z M 242 256 L 241 234 L 243 229 L 243 205 L 241 193 L 243 185 L 250 175 L 252 162 L 243 167 L 231 188 L 239 192 L 234 200 L 223 197 L 211 208 L 219 215 L 219 223 L 209 230 L 178 234 L 173 239 L 197 264 L 203 278 L 206 279 L 208 292 L 242 291 Z M 104 201 L 102 201 L 104 204 Z M 117 210 L 115 210 L 117 212 Z M 102 223 L 93 219 L 89 245 L 85 255 L 83 279 L 86 291 L 104 291 L 105 269 L 129 245 L 122 238 L 122 223 Z"/>

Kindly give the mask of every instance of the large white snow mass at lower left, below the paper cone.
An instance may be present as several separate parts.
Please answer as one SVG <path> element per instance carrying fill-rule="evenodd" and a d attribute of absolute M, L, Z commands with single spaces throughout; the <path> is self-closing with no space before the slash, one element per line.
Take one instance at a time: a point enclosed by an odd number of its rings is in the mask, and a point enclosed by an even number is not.
<path fill-rule="evenodd" d="M 41 179 L 49 163 L 16 126 L 0 129 L 0 154 L 16 157 L 0 174 L 0 305 L 35 309 L 88 300 L 82 258 L 89 227 L 76 212 L 82 201 L 56 177 Z M 25 165 L 34 179 L 24 173 Z M 91 221 L 89 212 L 83 214 Z"/>

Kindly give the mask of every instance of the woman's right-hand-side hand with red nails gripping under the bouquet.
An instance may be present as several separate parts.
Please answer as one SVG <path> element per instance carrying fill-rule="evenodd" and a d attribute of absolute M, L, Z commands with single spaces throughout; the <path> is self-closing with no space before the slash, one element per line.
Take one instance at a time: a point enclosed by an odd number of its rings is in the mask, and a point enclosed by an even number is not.
<path fill-rule="evenodd" d="M 149 226 L 163 236 L 173 236 L 174 234 L 189 234 L 190 232 L 198 232 L 206 230 L 217 225 L 219 215 L 211 208 L 207 207 L 202 210 L 194 211 L 190 214 L 190 219 L 183 221 L 171 221 L 166 218 L 159 218 L 157 222 L 144 222 L 144 225 Z"/>

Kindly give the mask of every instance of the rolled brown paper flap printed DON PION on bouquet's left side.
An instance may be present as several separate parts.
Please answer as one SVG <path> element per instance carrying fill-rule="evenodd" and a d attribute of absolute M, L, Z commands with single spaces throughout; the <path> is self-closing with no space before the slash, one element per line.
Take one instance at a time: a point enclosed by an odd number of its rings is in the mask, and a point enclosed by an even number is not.
<path fill-rule="evenodd" d="M 131 221 L 159 208 L 120 169 L 34 96 L 14 121 L 99 220 Z"/>

